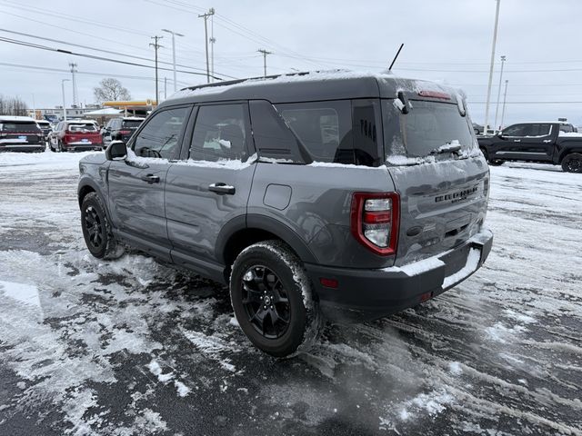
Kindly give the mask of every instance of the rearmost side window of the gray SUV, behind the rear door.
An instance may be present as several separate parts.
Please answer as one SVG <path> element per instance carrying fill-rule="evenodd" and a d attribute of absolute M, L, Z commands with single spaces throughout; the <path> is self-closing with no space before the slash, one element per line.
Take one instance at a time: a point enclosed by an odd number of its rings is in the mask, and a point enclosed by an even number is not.
<path fill-rule="evenodd" d="M 314 161 L 355 163 L 348 100 L 276 104 L 276 109 Z"/>

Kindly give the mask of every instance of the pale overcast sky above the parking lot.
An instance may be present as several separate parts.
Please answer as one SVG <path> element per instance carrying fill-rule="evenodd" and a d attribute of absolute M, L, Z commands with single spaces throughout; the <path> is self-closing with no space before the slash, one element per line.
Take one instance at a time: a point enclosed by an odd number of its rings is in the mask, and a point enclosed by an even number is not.
<path fill-rule="evenodd" d="M 185 35 L 176 37 L 177 64 L 184 65 L 178 69 L 204 73 L 204 20 L 198 15 L 210 7 L 216 9 L 216 75 L 262 75 L 259 48 L 274 52 L 267 56 L 267 74 L 334 68 L 379 72 L 386 69 L 398 45 L 405 43 L 394 72 L 461 86 L 474 121 L 483 124 L 495 0 L 0 0 L 3 30 L 118 54 L 4 31 L 0 37 L 153 65 L 154 50 L 148 46 L 153 35 L 164 36 L 160 61 L 171 63 L 171 35 L 161 31 L 166 28 Z M 582 102 L 581 12 L 581 0 L 501 0 L 496 58 L 507 56 L 506 125 L 558 116 L 582 125 L 582 103 L 519 103 Z M 209 20 L 209 31 L 210 24 Z M 61 79 L 71 78 L 66 72 L 69 62 L 77 64 L 82 104 L 93 103 L 93 87 L 109 76 L 118 78 L 135 99 L 154 98 L 153 69 L 4 41 L 0 41 L 0 94 L 18 95 L 31 107 L 33 94 L 36 107 L 62 104 Z M 171 69 L 171 64 L 160 66 Z M 164 77 L 168 95 L 174 90 L 172 72 L 159 75 L 163 98 Z M 204 75 L 177 74 L 178 88 L 205 82 Z M 499 64 L 493 82 L 492 101 L 496 102 Z M 71 82 L 65 82 L 65 96 L 70 104 Z M 494 104 L 491 124 L 495 110 Z"/>

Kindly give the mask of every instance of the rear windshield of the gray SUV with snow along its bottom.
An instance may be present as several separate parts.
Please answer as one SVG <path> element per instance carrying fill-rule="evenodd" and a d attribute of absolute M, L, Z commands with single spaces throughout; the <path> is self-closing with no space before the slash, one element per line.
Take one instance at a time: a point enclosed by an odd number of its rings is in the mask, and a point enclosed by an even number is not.
<path fill-rule="evenodd" d="M 394 102 L 385 100 L 382 105 L 388 160 L 426 157 L 448 144 L 458 144 L 464 151 L 476 146 L 473 128 L 457 104 L 412 100 L 408 114 L 402 114 Z"/>

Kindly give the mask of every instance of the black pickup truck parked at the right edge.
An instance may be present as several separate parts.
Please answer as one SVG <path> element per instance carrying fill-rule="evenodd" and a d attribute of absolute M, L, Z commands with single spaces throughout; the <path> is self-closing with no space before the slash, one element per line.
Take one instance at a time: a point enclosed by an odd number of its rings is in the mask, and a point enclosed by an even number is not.
<path fill-rule="evenodd" d="M 490 165 L 507 161 L 553 163 L 564 171 L 582 173 L 582 135 L 561 122 L 513 124 L 494 136 L 478 138 Z"/>

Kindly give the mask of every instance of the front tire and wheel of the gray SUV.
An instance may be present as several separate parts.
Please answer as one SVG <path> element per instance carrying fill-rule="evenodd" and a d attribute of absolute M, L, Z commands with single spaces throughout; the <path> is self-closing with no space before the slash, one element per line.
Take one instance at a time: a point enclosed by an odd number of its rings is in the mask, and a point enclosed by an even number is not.
<path fill-rule="evenodd" d="M 117 259 L 124 253 L 117 243 L 97 193 L 87 193 L 81 204 L 81 228 L 89 253 L 97 259 Z"/>

